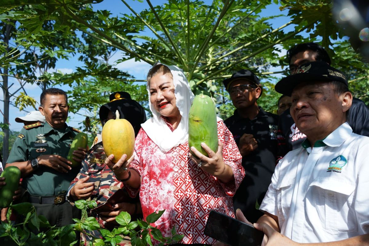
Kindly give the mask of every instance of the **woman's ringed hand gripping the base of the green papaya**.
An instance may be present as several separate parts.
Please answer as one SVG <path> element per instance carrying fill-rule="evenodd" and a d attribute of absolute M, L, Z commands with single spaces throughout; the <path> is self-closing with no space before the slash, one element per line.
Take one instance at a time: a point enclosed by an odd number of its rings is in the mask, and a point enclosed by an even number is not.
<path fill-rule="evenodd" d="M 190 158 L 195 162 L 201 169 L 207 173 L 217 177 L 224 183 L 228 183 L 233 177 L 233 171 L 230 166 L 223 162 L 223 143 L 218 140 L 218 150 L 215 153 L 213 150 L 206 145 L 201 143 L 201 147 L 208 153 L 209 157 L 204 156 L 195 147 L 191 147 L 192 152 L 198 156 L 194 156 L 189 153 Z"/>

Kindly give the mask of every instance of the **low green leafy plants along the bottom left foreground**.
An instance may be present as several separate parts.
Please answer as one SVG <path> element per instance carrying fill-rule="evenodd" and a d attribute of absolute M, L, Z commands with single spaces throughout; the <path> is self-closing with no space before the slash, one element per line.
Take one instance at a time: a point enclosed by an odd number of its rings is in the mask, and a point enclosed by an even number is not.
<path fill-rule="evenodd" d="M 120 212 L 115 218 L 119 224 L 112 231 L 101 228 L 94 217 L 87 216 L 87 209 L 96 207 L 96 201 L 79 200 L 75 202 L 77 208 L 82 210 L 81 219 L 73 219 L 76 223 L 66 225 L 60 228 L 51 226 L 45 216 L 37 215 L 35 208 L 29 202 L 23 202 L 11 205 L 11 209 L 23 216 L 21 223 L 14 224 L 8 219 L 8 223 L 1 222 L 0 242 L 6 242 L 7 245 L 75 245 L 77 233 L 83 232 L 89 236 L 88 231 L 99 231 L 102 238 L 94 238 L 89 242 L 93 246 L 117 245 L 125 236 L 131 238 L 133 246 L 153 245 L 153 239 L 159 242 L 159 246 L 179 241 L 182 235 L 177 235 L 175 228 L 172 229 L 171 237 L 164 237 L 151 223 L 157 221 L 165 210 L 149 214 L 146 221 L 138 219 L 131 221 L 131 215 L 127 212 Z M 9 209 L 10 210 L 10 209 Z M 10 213 L 10 212 L 8 212 Z M 8 214 L 9 215 L 9 214 Z M 81 242 L 83 244 L 84 242 Z"/>

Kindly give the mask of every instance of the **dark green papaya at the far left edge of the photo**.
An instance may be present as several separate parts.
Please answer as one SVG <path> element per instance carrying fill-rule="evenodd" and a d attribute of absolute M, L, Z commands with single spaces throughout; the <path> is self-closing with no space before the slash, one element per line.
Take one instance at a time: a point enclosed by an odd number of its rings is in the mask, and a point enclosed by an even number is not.
<path fill-rule="evenodd" d="M 13 201 L 14 191 L 18 189 L 21 171 L 18 167 L 10 166 L 4 169 L 0 177 L 4 177 L 6 183 L 0 188 L 0 208 L 6 208 Z"/>

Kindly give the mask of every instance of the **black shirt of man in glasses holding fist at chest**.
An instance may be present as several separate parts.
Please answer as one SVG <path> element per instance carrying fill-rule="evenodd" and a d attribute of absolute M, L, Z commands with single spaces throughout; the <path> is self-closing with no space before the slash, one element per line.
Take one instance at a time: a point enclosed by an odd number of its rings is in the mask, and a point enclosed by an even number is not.
<path fill-rule="evenodd" d="M 259 114 L 252 120 L 239 116 L 237 110 L 224 121 L 239 145 L 243 134 L 252 134 L 258 142 L 258 148 L 242 157 L 245 178 L 239 186 L 234 199 L 234 210 L 240 208 L 250 222 L 256 222 L 263 215 L 256 210 L 256 202 L 260 205 L 268 190 L 278 152 L 277 124 L 278 115 L 265 112 L 259 107 Z"/>

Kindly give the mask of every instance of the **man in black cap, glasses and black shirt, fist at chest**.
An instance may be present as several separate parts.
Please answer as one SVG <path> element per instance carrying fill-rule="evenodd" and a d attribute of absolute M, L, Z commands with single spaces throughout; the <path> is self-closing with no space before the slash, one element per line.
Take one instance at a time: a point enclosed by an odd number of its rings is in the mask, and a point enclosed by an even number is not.
<path fill-rule="evenodd" d="M 242 69 L 223 83 L 236 108 L 224 123 L 232 132 L 245 169 L 245 178 L 233 199 L 234 209 L 241 209 L 255 222 L 262 215 L 255 206 L 268 190 L 277 159 L 278 116 L 258 106 L 262 86 L 251 71 Z"/>

